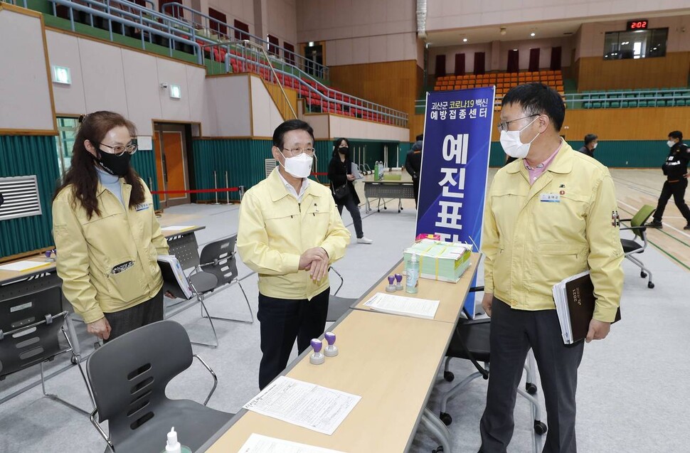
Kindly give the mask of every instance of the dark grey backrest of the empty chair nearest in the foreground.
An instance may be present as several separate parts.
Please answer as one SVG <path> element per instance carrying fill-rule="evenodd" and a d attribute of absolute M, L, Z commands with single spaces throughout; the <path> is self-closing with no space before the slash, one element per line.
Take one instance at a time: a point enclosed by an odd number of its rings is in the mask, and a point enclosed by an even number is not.
<path fill-rule="evenodd" d="M 110 437 L 129 434 L 156 417 L 169 381 L 192 362 L 189 336 L 175 321 L 158 321 L 105 343 L 88 358 L 86 371 L 100 422 Z"/>

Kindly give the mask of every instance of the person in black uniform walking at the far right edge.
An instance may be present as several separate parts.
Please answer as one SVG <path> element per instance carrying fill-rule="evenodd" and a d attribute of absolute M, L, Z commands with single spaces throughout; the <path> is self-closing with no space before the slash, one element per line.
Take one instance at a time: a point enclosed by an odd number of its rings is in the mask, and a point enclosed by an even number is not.
<path fill-rule="evenodd" d="M 680 131 L 669 132 L 670 146 L 669 156 L 666 158 L 662 171 L 667 177 L 662 188 L 662 194 L 659 196 L 659 204 L 657 210 L 654 211 L 654 219 L 647 223 L 647 226 L 654 228 L 663 228 L 662 217 L 666 209 L 666 203 L 669 198 L 673 196 L 673 200 L 681 211 L 681 214 L 687 221 L 684 230 L 690 230 L 690 208 L 685 204 L 685 189 L 688 186 L 688 162 L 690 161 L 690 150 L 688 146 L 683 143 L 683 133 Z"/>

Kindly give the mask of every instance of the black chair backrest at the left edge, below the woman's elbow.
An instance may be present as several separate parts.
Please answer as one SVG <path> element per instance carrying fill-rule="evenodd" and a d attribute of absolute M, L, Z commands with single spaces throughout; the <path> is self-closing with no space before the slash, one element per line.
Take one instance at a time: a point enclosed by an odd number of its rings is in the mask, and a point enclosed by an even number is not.
<path fill-rule="evenodd" d="M 69 351 L 59 336 L 65 316 L 67 311 L 46 313 L 31 324 L 0 331 L 0 379 Z"/>

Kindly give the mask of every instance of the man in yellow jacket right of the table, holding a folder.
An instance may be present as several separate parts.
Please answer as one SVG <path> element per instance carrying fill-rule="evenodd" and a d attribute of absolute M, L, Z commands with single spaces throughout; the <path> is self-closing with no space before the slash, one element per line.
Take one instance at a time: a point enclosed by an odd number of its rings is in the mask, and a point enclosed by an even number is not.
<path fill-rule="evenodd" d="M 540 83 L 503 98 L 501 146 L 516 161 L 501 168 L 484 211 L 484 300 L 492 317 L 491 374 L 479 429 L 481 452 L 506 452 L 526 355 L 537 361 L 546 400 L 543 452 L 574 453 L 575 390 L 584 342 L 566 345 L 553 285 L 590 270 L 596 297 L 586 341 L 604 339 L 623 286 L 615 188 L 608 169 L 558 134 L 565 107 Z"/>

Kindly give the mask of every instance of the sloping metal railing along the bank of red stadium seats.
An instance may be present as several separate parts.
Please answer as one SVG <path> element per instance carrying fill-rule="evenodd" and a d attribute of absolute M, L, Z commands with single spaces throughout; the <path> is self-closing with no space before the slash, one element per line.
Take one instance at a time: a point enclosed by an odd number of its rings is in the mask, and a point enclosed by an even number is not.
<path fill-rule="evenodd" d="M 313 78 L 311 75 L 302 73 L 299 68 L 292 65 L 284 64 L 284 68 L 292 69 L 290 72 L 276 68 L 270 63 L 270 58 L 265 58 L 265 60 L 255 58 L 259 53 L 258 49 L 262 51 L 263 49 L 252 41 L 216 43 L 209 47 L 216 47 L 224 50 L 225 56 L 223 62 L 225 63 L 225 72 L 227 73 L 230 73 L 230 68 L 232 67 L 231 60 L 235 59 L 235 64 L 240 73 L 256 73 L 263 76 L 263 69 L 267 71 L 267 81 L 281 85 L 283 92 L 285 92 L 283 87 L 285 86 L 286 78 L 292 78 L 292 82 L 297 82 L 297 84 L 299 84 L 297 87 L 298 90 L 302 88 L 302 91 L 307 91 L 307 95 L 304 95 L 304 93 L 300 93 L 300 95 L 307 99 L 307 109 L 309 112 L 314 112 L 314 110 L 316 110 L 313 109 L 312 105 L 320 104 L 322 111 L 325 109 L 325 112 L 340 114 L 361 112 L 360 114 L 362 117 L 366 112 L 366 114 L 372 115 L 373 117 L 380 117 L 381 121 L 388 124 L 399 127 L 407 127 L 408 125 L 408 114 L 405 112 L 400 112 L 399 110 L 391 109 L 390 107 L 385 107 L 375 102 L 361 99 L 360 97 L 333 90 L 322 84 L 322 82 L 319 82 L 319 80 Z M 282 75 L 282 80 L 279 75 Z M 311 81 L 311 83 L 304 79 Z M 342 99 L 338 99 L 338 97 Z M 319 102 L 309 102 L 309 100 L 319 100 Z"/>

